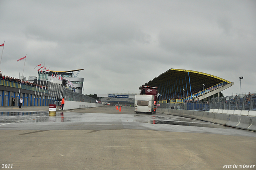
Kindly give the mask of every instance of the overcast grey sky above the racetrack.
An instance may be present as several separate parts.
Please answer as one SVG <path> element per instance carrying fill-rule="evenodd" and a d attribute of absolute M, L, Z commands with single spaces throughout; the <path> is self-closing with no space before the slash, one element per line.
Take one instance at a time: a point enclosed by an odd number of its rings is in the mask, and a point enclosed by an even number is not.
<path fill-rule="evenodd" d="M 139 92 L 170 68 L 256 91 L 255 0 L 0 0 L 0 68 L 16 78 L 84 69 L 83 94 Z M 0 48 L 2 53 L 2 48 Z M 0 54 L 1 54 L 0 53 Z"/>

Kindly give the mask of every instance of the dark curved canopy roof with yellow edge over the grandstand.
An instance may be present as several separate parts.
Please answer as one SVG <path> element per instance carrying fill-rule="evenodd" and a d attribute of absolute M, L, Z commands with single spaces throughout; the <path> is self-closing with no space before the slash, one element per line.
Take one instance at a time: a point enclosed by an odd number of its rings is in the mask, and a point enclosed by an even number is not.
<path fill-rule="evenodd" d="M 160 74 L 160 76 L 154 78 L 153 80 L 150 80 L 144 85 L 162 88 L 166 92 L 177 91 L 177 93 L 183 93 L 182 89 L 184 89 L 185 91 L 190 91 L 191 88 L 192 91 L 198 92 L 198 90 L 203 90 L 203 88 L 209 88 L 221 82 L 226 82 L 228 84 L 231 83 L 228 80 L 213 76 L 211 74 L 192 70 L 171 68 L 170 70 Z M 205 84 L 204 87 L 203 84 Z"/>

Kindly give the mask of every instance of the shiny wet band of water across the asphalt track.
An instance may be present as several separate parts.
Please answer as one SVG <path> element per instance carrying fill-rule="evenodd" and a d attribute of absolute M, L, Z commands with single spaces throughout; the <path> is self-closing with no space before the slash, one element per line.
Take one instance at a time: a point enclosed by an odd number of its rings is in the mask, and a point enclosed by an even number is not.
<path fill-rule="evenodd" d="M 49 116 L 49 112 L 0 112 L 0 123 L 41 123 L 41 122 L 87 122 L 88 119 L 95 117 L 96 122 L 104 122 L 106 117 L 110 118 L 107 122 L 120 121 L 119 116 L 109 114 L 88 114 L 88 113 L 57 113 L 56 116 Z M 116 116 L 116 117 L 115 117 Z M 124 116 L 124 115 L 123 115 Z M 148 124 L 168 124 L 178 126 L 197 126 L 208 128 L 226 128 L 219 124 L 210 122 L 203 122 L 200 120 L 176 117 L 170 118 L 168 116 L 152 116 L 147 114 L 130 114 L 124 116 L 121 121 L 148 123 Z"/>

